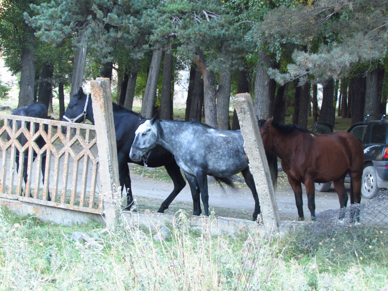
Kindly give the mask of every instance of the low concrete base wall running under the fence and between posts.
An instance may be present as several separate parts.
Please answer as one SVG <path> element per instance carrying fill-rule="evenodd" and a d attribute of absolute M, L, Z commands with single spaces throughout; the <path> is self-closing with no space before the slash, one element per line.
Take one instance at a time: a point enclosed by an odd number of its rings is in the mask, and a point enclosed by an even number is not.
<path fill-rule="evenodd" d="M 87 223 L 103 223 L 105 224 L 104 215 L 86 213 L 75 210 L 55 208 L 50 206 L 38 205 L 18 200 L 0 198 L 0 205 L 6 206 L 9 210 L 19 215 L 32 215 L 39 218 L 43 222 L 53 222 L 62 225 L 77 225 Z M 213 235 L 240 236 L 254 232 L 265 236 L 272 232 L 277 232 L 276 229 L 267 229 L 257 222 L 244 220 L 239 218 L 217 217 L 209 218 L 204 216 L 183 216 L 167 214 L 167 213 L 133 213 L 123 212 L 121 220 L 128 225 L 140 225 L 142 227 L 151 227 L 151 229 L 159 229 L 161 226 L 172 228 L 174 224 L 187 226 L 191 230 L 203 232 L 211 230 Z M 289 225 L 283 222 L 279 225 L 281 232 L 288 232 L 295 227 L 295 222 Z"/>

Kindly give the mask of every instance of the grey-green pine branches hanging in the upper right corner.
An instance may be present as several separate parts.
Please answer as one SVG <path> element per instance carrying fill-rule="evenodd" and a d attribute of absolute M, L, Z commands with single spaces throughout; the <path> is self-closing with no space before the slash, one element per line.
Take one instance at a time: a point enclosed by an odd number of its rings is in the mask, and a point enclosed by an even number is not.
<path fill-rule="evenodd" d="M 357 62 L 382 60 L 386 56 L 388 15 L 382 0 L 315 1 L 314 5 L 282 6 L 266 14 L 256 26 L 260 42 L 282 54 L 286 43 L 298 44 L 294 64 L 286 74 L 271 70 L 270 76 L 283 84 L 300 79 L 324 83 L 346 76 Z"/>

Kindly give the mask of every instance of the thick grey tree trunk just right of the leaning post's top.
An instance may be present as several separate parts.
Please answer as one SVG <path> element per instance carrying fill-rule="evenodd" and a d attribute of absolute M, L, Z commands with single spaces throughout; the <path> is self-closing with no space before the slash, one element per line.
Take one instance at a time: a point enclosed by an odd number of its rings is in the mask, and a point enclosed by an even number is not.
<path fill-rule="evenodd" d="M 256 66 L 255 79 L 255 98 L 253 104 L 255 113 L 259 119 L 267 120 L 270 118 L 271 97 L 270 97 L 270 78 L 267 69 L 270 67 L 270 57 L 267 52 L 260 51 Z"/>

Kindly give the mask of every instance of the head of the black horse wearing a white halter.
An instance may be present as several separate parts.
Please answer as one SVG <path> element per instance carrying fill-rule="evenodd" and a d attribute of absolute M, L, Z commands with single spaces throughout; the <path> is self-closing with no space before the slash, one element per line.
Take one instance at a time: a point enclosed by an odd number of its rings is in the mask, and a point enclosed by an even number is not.
<path fill-rule="evenodd" d="M 71 97 L 62 121 L 84 123 L 87 119 L 94 124 L 92 99 L 90 94 L 86 95 L 80 87 L 78 92 Z M 64 126 L 62 126 L 62 133 L 66 133 Z"/>

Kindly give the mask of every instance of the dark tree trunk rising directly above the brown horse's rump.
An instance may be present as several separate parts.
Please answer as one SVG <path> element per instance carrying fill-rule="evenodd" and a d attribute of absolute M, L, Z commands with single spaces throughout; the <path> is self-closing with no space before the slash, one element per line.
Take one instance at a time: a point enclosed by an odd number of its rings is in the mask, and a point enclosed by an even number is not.
<path fill-rule="evenodd" d="M 365 90 L 365 77 L 353 77 L 352 79 L 350 79 L 349 97 L 352 100 L 352 103 L 350 105 L 352 124 L 364 121 Z"/>

